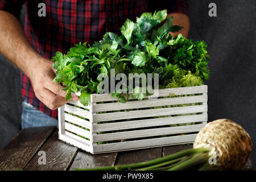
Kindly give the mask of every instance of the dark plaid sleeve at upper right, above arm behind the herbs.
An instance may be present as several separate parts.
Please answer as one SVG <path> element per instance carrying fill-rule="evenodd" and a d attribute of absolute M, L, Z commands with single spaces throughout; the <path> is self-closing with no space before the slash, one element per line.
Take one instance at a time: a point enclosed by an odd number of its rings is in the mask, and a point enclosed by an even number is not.
<path fill-rule="evenodd" d="M 149 9 L 151 12 L 167 10 L 167 13 L 183 13 L 189 16 L 189 3 L 187 0 L 161 0 L 150 1 Z"/>

